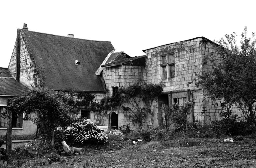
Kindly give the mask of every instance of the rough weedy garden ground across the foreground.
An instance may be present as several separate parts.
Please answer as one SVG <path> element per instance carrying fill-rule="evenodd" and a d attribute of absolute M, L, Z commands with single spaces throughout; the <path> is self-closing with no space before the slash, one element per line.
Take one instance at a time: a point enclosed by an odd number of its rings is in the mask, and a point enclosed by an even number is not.
<path fill-rule="evenodd" d="M 48 164 L 47 155 L 28 160 L 22 167 L 193 167 L 193 168 L 255 168 L 255 139 L 223 142 L 223 139 L 173 139 L 169 141 L 140 142 L 110 141 L 105 145 L 85 145 L 85 155 L 63 158 Z M 110 151 L 113 151 L 110 152 Z M 49 154 L 48 154 L 49 156 Z"/>

